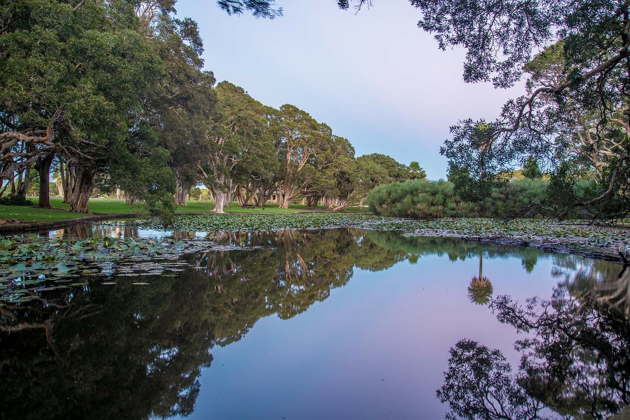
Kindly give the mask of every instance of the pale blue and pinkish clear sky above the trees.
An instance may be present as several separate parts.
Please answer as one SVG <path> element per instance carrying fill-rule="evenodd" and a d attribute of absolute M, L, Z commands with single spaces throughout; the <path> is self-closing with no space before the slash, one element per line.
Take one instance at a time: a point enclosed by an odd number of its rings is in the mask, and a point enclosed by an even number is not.
<path fill-rule="evenodd" d="M 350 140 L 357 156 L 418 161 L 429 179 L 445 178 L 439 149 L 450 125 L 495 118 L 522 92 L 464 83 L 465 51 L 438 50 L 406 0 L 374 0 L 357 14 L 335 0 L 277 3 L 284 16 L 275 20 L 227 16 L 214 0 L 178 0 L 176 9 L 199 24 L 217 81 L 265 105 L 298 106 Z"/>

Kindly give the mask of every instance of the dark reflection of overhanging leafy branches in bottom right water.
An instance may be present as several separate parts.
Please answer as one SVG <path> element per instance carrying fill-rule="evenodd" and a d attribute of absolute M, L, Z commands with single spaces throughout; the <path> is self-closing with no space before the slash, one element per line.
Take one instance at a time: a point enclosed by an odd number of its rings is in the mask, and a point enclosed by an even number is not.
<path fill-rule="evenodd" d="M 518 373 L 510 373 L 500 351 L 459 341 L 438 390 L 450 404 L 449 416 L 502 418 L 497 413 L 510 407 L 522 410 L 518 418 L 539 418 L 544 405 L 563 417 L 603 419 L 630 404 L 630 320 L 619 301 L 609 298 L 627 290 L 626 271 L 611 282 L 595 276 L 584 287 L 585 271 L 578 270 L 551 300 L 491 300 L 497 319 L 527 336 L 515 344 L 522 355 Z M 576 295 L 575 285 L 590 292 Z"/>

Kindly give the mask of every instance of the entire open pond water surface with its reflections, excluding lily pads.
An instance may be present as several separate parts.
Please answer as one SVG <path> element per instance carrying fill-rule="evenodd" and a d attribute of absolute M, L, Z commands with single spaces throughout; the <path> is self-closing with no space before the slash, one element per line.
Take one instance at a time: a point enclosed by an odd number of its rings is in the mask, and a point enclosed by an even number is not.
<path fill-rule="evenodd" d="M 620 264 L 360 229 L 167 234 L 257 248 L 0 302 L 0 418 L 606 418 L 630 403 Z"/>

